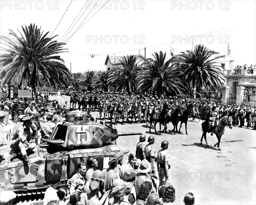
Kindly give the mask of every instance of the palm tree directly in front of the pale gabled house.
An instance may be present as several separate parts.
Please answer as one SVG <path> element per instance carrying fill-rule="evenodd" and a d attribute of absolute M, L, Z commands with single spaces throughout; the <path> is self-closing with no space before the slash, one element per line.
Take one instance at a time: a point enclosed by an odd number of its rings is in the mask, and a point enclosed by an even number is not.
<path fill-rule="evenodd" d="M 108 83 L 116 90 L 126 90 L 131 93 L 136 90 L 136 76 L 140 70 L 139 62 L 135 55 L 123 57 L 120 61 L 123 68 L 116 67 L 109 72 Z"/>

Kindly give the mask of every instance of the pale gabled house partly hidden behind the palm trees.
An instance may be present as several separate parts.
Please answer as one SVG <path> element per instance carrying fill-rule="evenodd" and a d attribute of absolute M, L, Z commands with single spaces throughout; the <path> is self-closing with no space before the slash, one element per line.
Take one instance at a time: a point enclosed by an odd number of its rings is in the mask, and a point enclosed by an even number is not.
<path fill-rule="evenodd" d="M 111 70 L 113 67 L 120 67 L 120 68 L 123 68 L 122 67 L 122 64 L 121 64 L 121 60 L 124 56 L 117 56 L 117 55 L 107 55 L 107 58 L 106 58 L 106 61 L 105 61 L 105 66 L 106 66 L 106 70 Z M 125 58 L 127 57 L 127 55 L 125 56 Z M 137 54 L 136 55 L 136 58 L 137 58 L 137 62 L 138 65 L 141 65 L 145 62 L 145 58 L 143 55 L 141 54 Z M 146 60 L 147 62 L 147 60 Z"/>

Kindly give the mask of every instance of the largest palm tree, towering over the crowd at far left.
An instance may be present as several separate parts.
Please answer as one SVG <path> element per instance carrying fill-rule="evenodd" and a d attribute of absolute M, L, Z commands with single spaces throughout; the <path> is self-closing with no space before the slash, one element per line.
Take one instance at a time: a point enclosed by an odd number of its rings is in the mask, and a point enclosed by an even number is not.
<path fill-rule="evenodd" d="M 47 37 L 49 32 L 43 34 L 41 28 L 30 24 L 22 26 L 23 34 L 20 36 L 10 30 L 9 35 L 16 38 L 17 42 L 10 40 L 2 50 L 6 53 L 0 55 L 2 67 L 1 84 L 10 82 L 22 88 L 31 86 L 34 91 L 36 86 L 45 83 L 53 87 L 67 85 L 70 76 L 69 69 L 64 65 L 64 60 L 58 55 L 66 52 L 65 43 L 59 43 L 53 37 Z"/>

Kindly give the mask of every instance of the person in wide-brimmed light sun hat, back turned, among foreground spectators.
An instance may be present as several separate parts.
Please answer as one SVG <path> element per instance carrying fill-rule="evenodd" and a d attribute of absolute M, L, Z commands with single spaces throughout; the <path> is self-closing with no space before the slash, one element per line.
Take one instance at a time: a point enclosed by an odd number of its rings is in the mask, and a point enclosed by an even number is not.
<path fill-rule="evenodd" d="M 139 173 L 135 176 L 135 190 L 137 197 L 140 193 L 140 186 L 143 184 L 143 182 L 148 181 L 151 182 L 152 188 L 154 189 L 151 177 L 149 176 L 149 172 L 151 170 L 151 164 L 148 162 L 148 160 L 143 159 L 140 163 L 140 167 L 138 168 Z"/>

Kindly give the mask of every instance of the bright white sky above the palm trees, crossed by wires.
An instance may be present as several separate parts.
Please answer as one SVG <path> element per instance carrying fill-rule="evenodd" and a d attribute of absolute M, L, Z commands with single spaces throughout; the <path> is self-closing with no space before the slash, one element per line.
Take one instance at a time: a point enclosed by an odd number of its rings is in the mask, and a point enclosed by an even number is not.
<path fill-rule="evenodd" d="M 255 0 L 1 0 L 0 46 L 30 23 L 66 43 L 73 73 L 106 70 L 107 55 L 169 59 L 171 47 L 177 55 L 200 43 L 221 55 L 229 46 L 234 66 L 256 64 Z"/>

